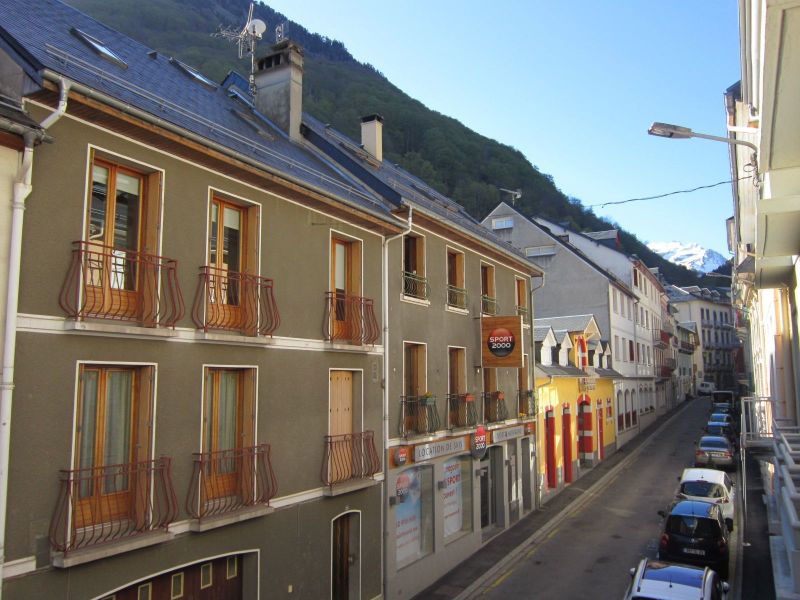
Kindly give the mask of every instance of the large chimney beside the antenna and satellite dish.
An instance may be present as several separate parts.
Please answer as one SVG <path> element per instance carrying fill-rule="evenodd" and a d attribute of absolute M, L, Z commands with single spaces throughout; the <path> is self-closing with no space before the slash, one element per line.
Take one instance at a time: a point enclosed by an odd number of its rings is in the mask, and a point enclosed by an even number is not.
<path fill-rule="evenodd" d="M 300 141 L 303 113 L 303 50 L 291 40 L 275 44 L 256 62 L 256 108 Z"/>

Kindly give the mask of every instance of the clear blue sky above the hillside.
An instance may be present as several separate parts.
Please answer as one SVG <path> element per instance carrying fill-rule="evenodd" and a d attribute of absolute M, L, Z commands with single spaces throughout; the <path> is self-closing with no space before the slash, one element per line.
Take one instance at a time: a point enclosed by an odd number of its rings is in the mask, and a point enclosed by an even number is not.
<path fill-rule="evenodd" d="M 730 256 L 729 183 L 599 205 L 730 179 L 727 144 L 647 129 L 661 121 L 727 135 L 723 94 L 741 77 L 735 0 L 265 3 L 343 42 L 429 108 L 517 148 L 642 241 Z"/>

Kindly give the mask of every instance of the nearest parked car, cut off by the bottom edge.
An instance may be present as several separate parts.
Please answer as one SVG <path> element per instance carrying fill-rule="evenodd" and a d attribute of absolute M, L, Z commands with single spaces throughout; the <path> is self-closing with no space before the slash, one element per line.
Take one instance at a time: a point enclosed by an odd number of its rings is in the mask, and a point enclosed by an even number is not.
<path fill-rule="evenodd" d="M 728 583 L 708 567 L 690 567 L 643 558 L 631 569 L 624 600 L 725 600 Z"/>

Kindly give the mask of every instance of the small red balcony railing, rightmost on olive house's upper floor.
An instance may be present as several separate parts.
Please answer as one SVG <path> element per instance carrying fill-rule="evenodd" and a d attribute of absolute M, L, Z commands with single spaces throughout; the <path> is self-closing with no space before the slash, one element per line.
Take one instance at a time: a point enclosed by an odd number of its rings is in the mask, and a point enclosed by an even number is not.
<path fill-rule="evenodd" d="M 322 329 L 329 342 L 341 340 L 356 345 L 374 344 L 381 335 L 373 301 L 340 292 L 325 293 Z"/>

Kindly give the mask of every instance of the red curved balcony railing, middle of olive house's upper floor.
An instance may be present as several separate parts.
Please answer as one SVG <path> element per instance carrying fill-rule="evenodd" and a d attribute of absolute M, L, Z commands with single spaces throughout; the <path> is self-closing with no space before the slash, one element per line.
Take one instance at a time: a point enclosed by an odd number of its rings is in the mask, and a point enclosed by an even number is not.
<path fill-rule="evenodd" d="M 281 323 L 271 279 L 200 267 L 192 319 L 198 329 L 272 335 Z"/>

